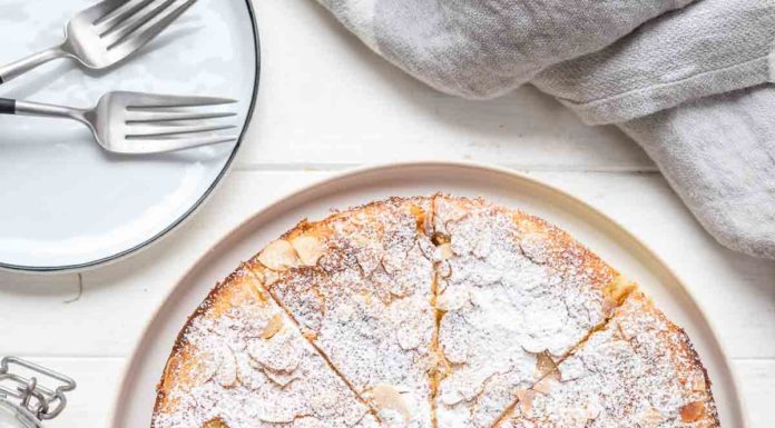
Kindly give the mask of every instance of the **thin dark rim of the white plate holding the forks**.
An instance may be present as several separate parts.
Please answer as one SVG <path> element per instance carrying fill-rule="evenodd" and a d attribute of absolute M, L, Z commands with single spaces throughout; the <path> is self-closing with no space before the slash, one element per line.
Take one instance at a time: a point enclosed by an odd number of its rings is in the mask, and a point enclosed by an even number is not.
<path fill-rule="evenodd" d="M 85 261 L 85 262 L 79 262 L 79 263 L 70 263 L 70 265 L 57 265 L 57 266 L 27 266 L 27 265 L 16 265 L 16 263 L 7 263 L 0 260 L 0 271 L 10 271 L 10 272 L 20 272 L 20 273 L 67 273 L 67 272 L 82 272 L 89 269 L 94 269 L 97 267 L 102 267 L 107 266 L 109 263 L 122 260 L 131 255 L 135 255 L 139 251 L 143 251 L 153 245 L 159 242 L 163 238 L 168 236 L 170 232 L 175 231 L 177 228 L 179 228 L 186 220 L 192 218 L 194 213 L 204 206 L 204 203 L 209 199 L 209 197 L 213 195 L 213 192 L 217 189 L 217 187 L 222 183 L 224 177 L 232 170 L 232 167 L 234 166 L 234 159 L 236 158 L 237 153 L 239 152 L 239 149 L 242 147 L 242 142 L 245 139 L 245 136 L 247 135 L 247 130 L 251 127 L 251 122 L 253 121 L 253 113 L 255 112 L 257 99 L 258 99 L 258 87 L 261 83 L 261 66 L 262 66 L 262 56 L 261 56 L 261 36 L 258 33 L 258 20 L 256 19 L 256 13 L 253 8 L 253 2 L 252 0 L 244 0 L 245 6 L 247 7 L 247 14 L 251 18 L 251 27 L 253 31 L 253 50 L 256 56 L 256 61 L 255 61 L 255 78 L 253 79 L 253 93 L 251 98 L 251 104 L 248 106 L 247 109 L 247 115 L 245 117 L 245 123 L 242 128 L 242 132 L 239 133 L 239 138 L 237 139 L 236 145 L 234 146 L 234 149 L 232 150 L 232 153 L 229 155 L 228 159 L 226 159 L 226 163 L 224 167 L 220 169 L 218 175 L 215 177 L 213 182 L 209 185 L 207 190 L 202 193 L 202 196 L 192 205 L 180 217 L 175 219 L 173 222 L 170 222 L 168 226 L 166 226 L 164 229 L 161 229 L 159 232 L 156 235 L 151 236 L 150 238 L 144 240 L 140 243 L 137 243 L 135 246 L 131 246 L 127 249 L 124 249 L 121 251 L 118 251 L 116 253 L 112 253 L 107 257 L 102 257 L 99 259 L 90 260 L 90 261 Z"/>

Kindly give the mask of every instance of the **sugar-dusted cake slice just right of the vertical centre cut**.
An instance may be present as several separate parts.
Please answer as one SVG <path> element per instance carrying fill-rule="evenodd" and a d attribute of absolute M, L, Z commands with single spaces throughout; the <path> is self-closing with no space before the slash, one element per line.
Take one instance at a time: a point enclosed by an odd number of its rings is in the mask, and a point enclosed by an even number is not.
<path fill-rule="evenodd" d="M 566 232 L 518 210 L 440 195 L 432 229 L 441 428 L 491 427 L 632 287 Z"/>

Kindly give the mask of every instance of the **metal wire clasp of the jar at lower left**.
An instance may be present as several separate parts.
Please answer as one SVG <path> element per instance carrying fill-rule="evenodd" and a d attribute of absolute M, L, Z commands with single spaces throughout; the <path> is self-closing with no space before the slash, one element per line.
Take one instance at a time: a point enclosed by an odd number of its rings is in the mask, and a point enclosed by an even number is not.
<path fill-rule="evenodd" d="M 56 389 L 38 384 L 37 377 L 24 378 L 10 372 L 12 365 L 38 372 L 47 378 L 58 380 Z M 47 369 L 35 362 L 17 357 L 6 357 L 0 360 L 0 399 L 12 397 L 19 400 L 19 406 L 32 412 L 40 420 L 56 418 L 67 405 L 65 392 L 76 389 L 76 381 L 69 377 Z"/>

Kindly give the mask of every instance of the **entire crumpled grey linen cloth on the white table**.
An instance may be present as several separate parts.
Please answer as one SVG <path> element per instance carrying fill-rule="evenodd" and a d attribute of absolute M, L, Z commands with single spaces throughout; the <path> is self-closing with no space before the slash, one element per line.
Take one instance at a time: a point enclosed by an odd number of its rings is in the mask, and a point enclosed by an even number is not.
<path fill-rule="evenodd" d="M 441 91 L 532 82 L 616 123 L 719 242 L 775 258 L 775 0 L 320 1 Z"/>

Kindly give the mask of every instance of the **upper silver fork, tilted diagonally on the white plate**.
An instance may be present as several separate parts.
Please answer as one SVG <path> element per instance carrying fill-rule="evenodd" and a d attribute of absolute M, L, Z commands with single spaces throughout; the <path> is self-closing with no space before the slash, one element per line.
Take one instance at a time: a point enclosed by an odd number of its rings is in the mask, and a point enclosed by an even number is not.
<path fill-rule="evenodd" d="M 65 42 L 0 67 L 0 84 L 57 58 L 101 70 L 127 59 L 158 36 L 196 0 L 105 0 L 76 14 Z"/>

